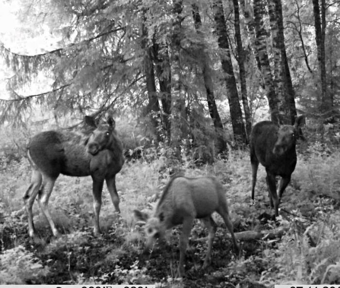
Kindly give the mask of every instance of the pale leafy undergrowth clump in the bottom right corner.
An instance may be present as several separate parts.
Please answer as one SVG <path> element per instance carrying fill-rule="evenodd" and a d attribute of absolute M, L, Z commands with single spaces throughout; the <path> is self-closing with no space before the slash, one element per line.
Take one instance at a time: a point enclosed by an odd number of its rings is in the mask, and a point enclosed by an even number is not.
<path fill-rule="evenodd" d="M 277 250 L 266 250 L 272 259 L 263 279 L 285 283 L 335 284 L 340 281 L 340 212 L 320 213 L 311 223 L 296 217 Z M 275 282 L 272 279 L 273 282 Z M 284 283 L 285 282 L 285 283 Z"/>

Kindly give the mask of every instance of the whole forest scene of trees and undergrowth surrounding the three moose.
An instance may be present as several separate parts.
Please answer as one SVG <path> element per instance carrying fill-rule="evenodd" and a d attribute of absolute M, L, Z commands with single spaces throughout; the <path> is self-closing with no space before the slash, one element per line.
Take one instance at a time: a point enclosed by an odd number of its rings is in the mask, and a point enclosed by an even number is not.
<path fill-rule="evenodd" d="M 0 284 L 339 283 L 339 1 L 1 2 Z M 35 204 L 29 237 L 30 139 L 79 133 L 85 116 L 114 119 L 125 157 L 120 214 L 108 185 L 94 235 L 91 177 L 62 175 L 50 199 L 61 235 Z M 274 219 L 261 165 L 251 201 L 251 131 L 261 120 L 296 119 L 304 119 L 297 165 Z M 219 179 L 241 251 L 214 214 L 203 271 L 207 234 L 195 222 L 183 278 L 180 229 L 143 254 L 143 223 L 132 213 L 152 210 L 178 173 Z"/>

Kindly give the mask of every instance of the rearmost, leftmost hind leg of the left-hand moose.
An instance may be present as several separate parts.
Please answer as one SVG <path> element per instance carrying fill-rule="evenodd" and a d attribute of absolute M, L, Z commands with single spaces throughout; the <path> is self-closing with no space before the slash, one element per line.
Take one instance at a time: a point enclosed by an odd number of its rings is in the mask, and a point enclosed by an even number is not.
<path fill-rule="evenodd" d="M 32 207 L 36 194 L 38 194 L 42 182 L 41 173 L 38 170 L 33 169 L 31 184 L 24 194 L 24 203 L 26 208 L 26 213 L 28 217 L 28 234 L 30 237 L 34 237 L 35 229 L 33 223 Z"/>

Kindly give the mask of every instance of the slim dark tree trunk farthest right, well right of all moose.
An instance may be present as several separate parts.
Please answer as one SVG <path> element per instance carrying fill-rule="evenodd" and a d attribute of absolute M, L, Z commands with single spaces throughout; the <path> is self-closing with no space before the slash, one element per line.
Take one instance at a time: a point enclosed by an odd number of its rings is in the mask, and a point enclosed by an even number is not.
<path fill-rule="evenodd" d="M 314 26 L 315 26 L 315 40 L 318 50 L 318 63 L 320 69 L 320 79 L 321 79 L 321 111 L 327 112 L 331 109 L 333 103 L 331 98 L 327 97 L 326 90 L 326 65 L 325 65 L 325 29 L 326 29 L 326 19 L 325 19 L 325 0 L 321 0 L 321 19 L 320 19 L 320 6 L 319 0 L 313 0 L 313 12 L 314 12 Z"/>

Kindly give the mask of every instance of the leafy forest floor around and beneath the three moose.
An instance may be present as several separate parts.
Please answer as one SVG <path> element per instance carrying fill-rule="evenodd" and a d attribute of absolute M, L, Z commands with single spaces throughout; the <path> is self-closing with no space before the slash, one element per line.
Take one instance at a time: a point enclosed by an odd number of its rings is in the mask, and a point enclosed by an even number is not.
<path fill-rule="evenodd" d="M 3 162 L 4 163 L 4 162 Z M 106 187 L 100 224 L 93 236 L 91 178 L 60 176 L 50 198 L 50 210 L 60 237 L 34 204 L 38 238 L 27 235 L 22 196 L 31 170 L 26 159 L 2 165 L 0 174 L 0 284 L 154 284 L 156 287 L 272 287 L 274 284 L 340 283 L 340 153 L 314 146 L 298 155 L 280 205 L 272 215 L 265 170 L 258 171 L 255 204 L 251 202 L 251 167 L 247 151 L 231 152 L 228 160 L 192 168 L 187 176 L 215 175 L 224 185 L 236 233 L 284 229 L 277 237 L 239 241 L 232 252 L 229 233 L 219 215 L 212 263 L 202 270 L 207 231 L 196 221 L 186 254 L 186 275 L 178 278 L 180 227 L 150 253 L 144 248 L 143 227 L 133 209 L 152 211 L 169 181 L 164 159 L 125 163 L 117 175 L 121 214 L 114 212 Z"/>

